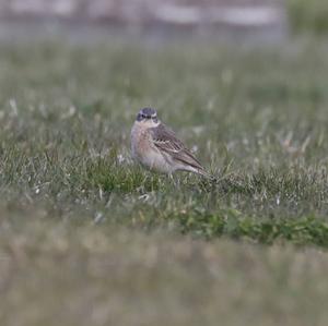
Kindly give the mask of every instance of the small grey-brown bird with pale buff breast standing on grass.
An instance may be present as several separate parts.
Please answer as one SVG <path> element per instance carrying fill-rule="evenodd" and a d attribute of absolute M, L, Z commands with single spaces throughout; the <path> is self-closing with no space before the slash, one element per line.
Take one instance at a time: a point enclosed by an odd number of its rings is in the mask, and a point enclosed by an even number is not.
<path fill-rule="evenodd" d="M 145 168 L 166 173 L 188 171 L 212 178 L 175 133 L 157 119 L 153 108 L 143 108 L 131 129 L 132 157 Z"/>

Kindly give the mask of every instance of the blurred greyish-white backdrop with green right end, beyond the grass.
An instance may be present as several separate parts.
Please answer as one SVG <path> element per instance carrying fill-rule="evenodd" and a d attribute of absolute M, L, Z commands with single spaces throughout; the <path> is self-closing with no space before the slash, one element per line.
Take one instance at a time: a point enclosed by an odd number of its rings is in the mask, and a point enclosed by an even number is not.
<path fill-rule="evenodd" d="M 108 34 L 277 43 L 300 32 L 324 34 L 323 0 L 0 0 L 0 38 Z"/>

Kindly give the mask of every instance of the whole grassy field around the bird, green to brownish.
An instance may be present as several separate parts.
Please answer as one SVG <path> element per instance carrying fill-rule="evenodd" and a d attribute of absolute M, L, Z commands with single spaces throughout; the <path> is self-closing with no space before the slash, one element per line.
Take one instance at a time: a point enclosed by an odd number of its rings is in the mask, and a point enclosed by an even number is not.
<path fill-rule="evenodd" d="M 327 325 L 328 46 L 0 48 L 1 325 Z M 216 177 L 130 156 L 157 109 Z"/>

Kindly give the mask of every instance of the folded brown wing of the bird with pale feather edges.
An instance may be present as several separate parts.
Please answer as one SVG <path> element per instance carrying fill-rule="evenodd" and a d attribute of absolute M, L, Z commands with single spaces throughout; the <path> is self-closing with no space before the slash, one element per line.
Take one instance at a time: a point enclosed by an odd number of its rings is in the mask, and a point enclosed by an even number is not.
<path fill-rule="evenodd" d="M 175 133 L 163 123 L 152 128 L 150 131 L 152 142 L 160 150 L 171 155 L 171 157 L 177 161 L 203 171 L 203 167 L 190 150 L 187 149 L 184 143 L 176 137 Z"/>

